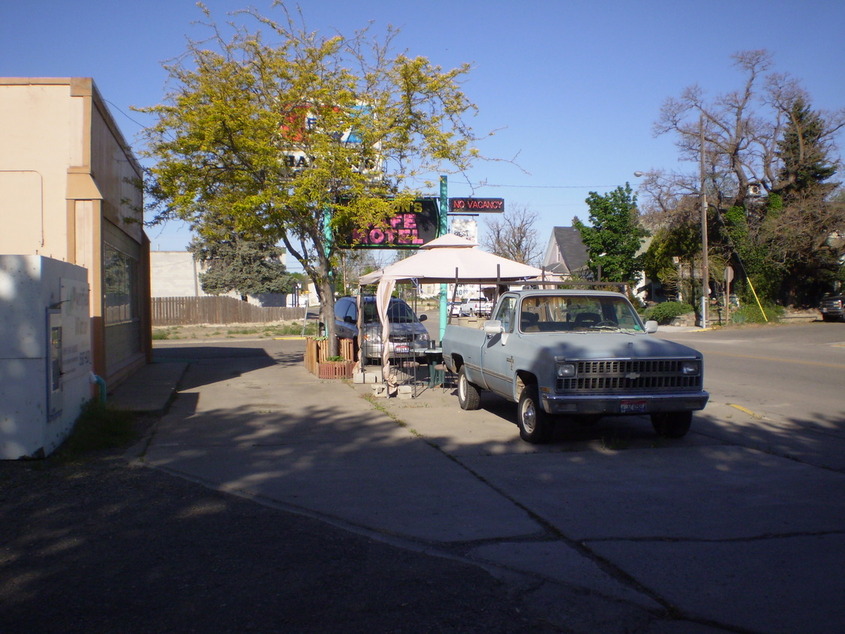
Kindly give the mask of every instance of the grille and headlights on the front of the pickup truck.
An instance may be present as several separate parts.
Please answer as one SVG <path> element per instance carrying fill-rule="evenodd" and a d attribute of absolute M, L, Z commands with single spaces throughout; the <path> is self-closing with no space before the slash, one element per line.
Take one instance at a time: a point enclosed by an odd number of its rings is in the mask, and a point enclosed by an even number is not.
<path fill-rule="evenodd" d="M 702 388 L 703 380 L 681 372 L 680 359 L 620 359 L 578 361 L 574 377 L 558 379 L 558 392 L 626 393 L 687 392 Z"/>

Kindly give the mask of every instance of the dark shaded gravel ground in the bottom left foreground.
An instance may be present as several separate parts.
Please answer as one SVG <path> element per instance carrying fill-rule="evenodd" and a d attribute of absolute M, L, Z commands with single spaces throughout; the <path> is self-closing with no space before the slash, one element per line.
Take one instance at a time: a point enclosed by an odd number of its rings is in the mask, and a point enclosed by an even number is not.
<path fill-rule="evenodd" d="M 11 632 L 536 632 L 514 588 L 127 460 L 0 461 Z"/>

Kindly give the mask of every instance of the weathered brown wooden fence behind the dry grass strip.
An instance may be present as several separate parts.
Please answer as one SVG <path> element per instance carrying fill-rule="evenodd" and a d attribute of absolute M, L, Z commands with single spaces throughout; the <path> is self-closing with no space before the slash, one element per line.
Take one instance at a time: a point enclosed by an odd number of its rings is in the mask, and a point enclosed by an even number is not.
<path fill-rule="evenodd" d="M 153 297 L 153 326 L 195 324 L 266 324 L 294 321 L 305 308 L 255 306 L 234 297 Z"/>

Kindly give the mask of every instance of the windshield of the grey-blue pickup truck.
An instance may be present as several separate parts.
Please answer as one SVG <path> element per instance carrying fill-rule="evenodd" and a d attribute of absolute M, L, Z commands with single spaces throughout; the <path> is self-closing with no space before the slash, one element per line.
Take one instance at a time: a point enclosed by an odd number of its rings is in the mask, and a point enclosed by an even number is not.
<path fill-rule="evenodd" d="M 522 300 L 522 332 L 643 332 L 631 305 L 622 297 L 538 295 Z"/>

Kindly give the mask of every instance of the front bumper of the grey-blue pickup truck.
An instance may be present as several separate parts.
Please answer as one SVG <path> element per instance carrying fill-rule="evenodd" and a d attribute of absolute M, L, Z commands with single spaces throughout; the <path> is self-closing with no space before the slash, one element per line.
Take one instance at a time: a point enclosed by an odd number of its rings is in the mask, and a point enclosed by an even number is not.
<path fill-rule="evenodd" d="M 626 416 L 656 412 L 689 412 L 704 409 L 710 394 L 541 394 L 548 414 Z"/>

